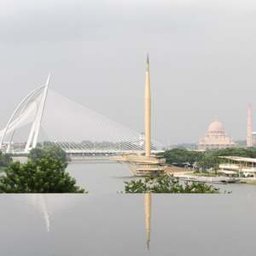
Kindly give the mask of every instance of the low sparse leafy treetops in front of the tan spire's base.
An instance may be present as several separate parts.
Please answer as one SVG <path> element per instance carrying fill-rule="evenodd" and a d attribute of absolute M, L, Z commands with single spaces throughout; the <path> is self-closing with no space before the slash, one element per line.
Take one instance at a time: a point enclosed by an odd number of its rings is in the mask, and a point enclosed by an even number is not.
<path fill-rule="evenodd" d="M 145 177 L 145 180 L 124 182 L 125 193 L 207 193 L 219 194 L 219 189 L 206 183 L 179 183 L 178 177 L 168 174 Z"/>

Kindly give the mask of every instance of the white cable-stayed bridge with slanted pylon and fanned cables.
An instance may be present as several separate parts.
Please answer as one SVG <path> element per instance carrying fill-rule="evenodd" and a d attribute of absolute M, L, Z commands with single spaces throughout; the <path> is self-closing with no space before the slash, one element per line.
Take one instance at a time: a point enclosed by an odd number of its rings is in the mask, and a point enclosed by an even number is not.
<path fill-rule="evenodd" d="M 67 154 L 144 152 L 143 133 L 120 125 L 48 87 L 49 79 L 15 109 L 0 131 L 3 151 L 28 153 L 41 140 L 61 147 Z M 23 142 L 22 147 L 15 148 L 17 142 Z M 161 143 L 151 143 L 152 153 L 166 148 Z"/>

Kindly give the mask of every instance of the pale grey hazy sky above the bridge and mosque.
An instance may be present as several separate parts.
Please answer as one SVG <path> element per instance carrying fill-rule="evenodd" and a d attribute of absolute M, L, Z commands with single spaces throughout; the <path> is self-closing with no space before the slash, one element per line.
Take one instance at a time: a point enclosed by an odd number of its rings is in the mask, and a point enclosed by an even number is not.
<path fill-rule="evenodd" d="M 143 131 L 148 51 L 155 140 L 197 143 L 216 113 L 246 139 L 255 27 L 248 0 L 2 0 L 1 128 L 50 72 L 51 90 Z"/>

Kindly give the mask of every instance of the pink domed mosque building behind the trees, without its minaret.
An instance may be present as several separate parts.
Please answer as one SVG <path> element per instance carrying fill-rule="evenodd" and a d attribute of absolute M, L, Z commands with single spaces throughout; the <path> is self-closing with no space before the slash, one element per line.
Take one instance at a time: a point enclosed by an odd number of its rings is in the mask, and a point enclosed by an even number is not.
<path fill-rule="evenodd" d="M 224 131 L 224 125 L 218 122 L 217 116 L 215 121 L 209 125 L 205 137 L 201 137 L 198 145 L 198 150 L 205 151 L 207 148 L 235 148 L 234 138 L 229 137 L 229 133 Z"/>

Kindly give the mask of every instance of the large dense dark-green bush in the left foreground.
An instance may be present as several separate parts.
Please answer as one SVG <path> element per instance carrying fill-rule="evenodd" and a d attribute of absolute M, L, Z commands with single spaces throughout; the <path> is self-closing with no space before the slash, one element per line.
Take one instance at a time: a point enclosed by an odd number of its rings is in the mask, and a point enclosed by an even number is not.
<path fill-rule="evenodd" d="M 0 193 L 84 193 L 65 172 L 66 167 L 67 163 L 49 156 L 36 163 L 16 161 L 0 176 Z"/>

